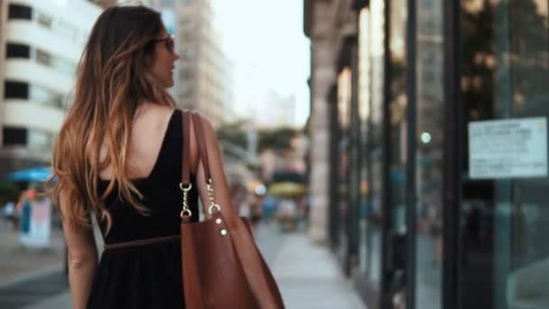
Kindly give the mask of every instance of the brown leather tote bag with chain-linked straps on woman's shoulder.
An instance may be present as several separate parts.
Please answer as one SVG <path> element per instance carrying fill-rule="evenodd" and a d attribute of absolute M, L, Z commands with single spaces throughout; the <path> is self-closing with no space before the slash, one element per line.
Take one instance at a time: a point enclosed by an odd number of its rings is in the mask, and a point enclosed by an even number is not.
<path fill-rule="evenodd" d="M 206 174 L 209 201 L 202 201 L 211 217 L 191 222 L 190 120 Z M 256 247 L 244 219 L 230 205 L 214 201 L 203 125 L 197 114 L 183 112 L 183 191 L 181 257 L 185 304 L 190 309 L 284 308 L 278 286 Z M 196 208 L 195 208 L 196 209 Z"/>

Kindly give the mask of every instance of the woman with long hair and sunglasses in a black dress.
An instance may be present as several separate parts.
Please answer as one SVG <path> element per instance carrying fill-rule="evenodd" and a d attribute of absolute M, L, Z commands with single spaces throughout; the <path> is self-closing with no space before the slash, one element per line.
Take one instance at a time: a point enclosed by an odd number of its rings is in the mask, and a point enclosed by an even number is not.
<path fill-rule="evenodd" d="M 202 201 L 208 192 L 195 131 L 183 140 L 181 110 L 166 91 L 178 58 L 160 14 L 144 6 L 108 8 L 88 38 L 74 101 L 54 148 L 56 181 L 48 183 L 68 245 L 74 309 L 185 306 L 179 188 L 184 143 L 191 148 L 185 160 L 191 162 L 191 184 Z M 216 201 L 229 205 L 215 132 L 200 119 Z M 191 203 L 198 201 L 196 192 Z M 91 212 L 106 244 L 100 263 Z"/>

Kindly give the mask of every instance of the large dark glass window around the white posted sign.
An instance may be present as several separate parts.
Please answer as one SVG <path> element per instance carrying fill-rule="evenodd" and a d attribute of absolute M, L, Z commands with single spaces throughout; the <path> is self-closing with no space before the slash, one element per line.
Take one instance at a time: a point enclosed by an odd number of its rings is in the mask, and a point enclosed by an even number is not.
<path fill-rule="evenodd" d="M 461 4 L 462 308 L 549 308 L 547 176 L 470 178 L 467 130 L 549 116 L 547 1 Z"/>

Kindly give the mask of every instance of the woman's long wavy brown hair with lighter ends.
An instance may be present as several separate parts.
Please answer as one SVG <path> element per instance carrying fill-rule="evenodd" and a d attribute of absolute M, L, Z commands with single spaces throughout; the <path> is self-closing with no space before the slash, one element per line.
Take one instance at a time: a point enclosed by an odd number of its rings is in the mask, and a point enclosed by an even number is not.
<path fill-rule="evenodd" d="M 93 26 L 79 61 L 74 100 L 53 149 L 48 192 L 64 224 L 88 226 L 90 211 L 107 221 L 107 196 L 117 191 L 147 214 L 128 178 L 128 142 L 135 112 L 144 101 L 174 107 L 170 95 L 148 73 L 154 40 L 164 29 L 160 14 L 144 6 L 108 8 Z M 107 155 L 100 159 L 104 145 Z M 98 194 L 99 173 L 110 166 L 107 190 Z"/>

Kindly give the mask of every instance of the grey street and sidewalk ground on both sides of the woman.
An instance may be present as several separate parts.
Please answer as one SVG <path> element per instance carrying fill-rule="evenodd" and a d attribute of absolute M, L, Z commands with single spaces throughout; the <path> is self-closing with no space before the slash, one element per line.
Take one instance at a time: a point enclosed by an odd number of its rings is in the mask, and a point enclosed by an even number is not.
<path fill-rule="evenodd" d="M 3 239 L 13 238 L 12 234 L 2 230 Z M 60 263 L 60 234 L 54 236 L 56 246 L 47 256 L 56 257 L 51 258 L 55 262 L 45 263 L 47 259 L 42 262 L 38 255 L 29 252 L 29 257 L 24 258 L 29 258 L 27 261 L 35 258 L 32 265 L 18 276 L 11 276 L 10 281 L 4 279 L 5 273 L 1 274 L 0 308 L 70 308 L 70 293 Z M 256 239 L 275 274 L 287 308 L 365 308 L 328 248 L 313 246 L 303 232 L 283 233 L 276 223 L 270 223 L 260 226 Z M 3 252 L 18 248 L 13 241 L 11 244 L 3 241 L 0 246 Z M 6 267 L 0 269 L 5 271 Z"/>

